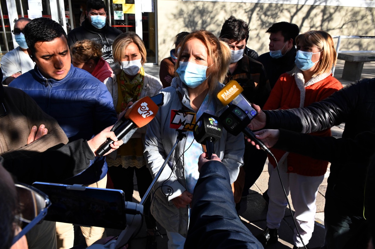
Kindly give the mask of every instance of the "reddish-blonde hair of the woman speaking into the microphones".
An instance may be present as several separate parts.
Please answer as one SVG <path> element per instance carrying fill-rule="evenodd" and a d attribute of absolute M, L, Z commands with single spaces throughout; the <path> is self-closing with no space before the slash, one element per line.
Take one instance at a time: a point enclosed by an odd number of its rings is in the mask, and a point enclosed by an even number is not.
<path fill-rule="evenodd" d="M 207 83 L 210 93 L 213 93 L 217 86 L 217 82 L 223 82 L 228 71 L 229 64 L 231 62 L 231 50 L 228 44 L 219 41 L 209 31 L 206 30 L 195 30 L 189 33 L 184 39 L 177 45 L 176 51 L 183 51 L 185 44 L 192 39 L 200 40 L 207 49 L 207 64 L 208 68 L 206 71 Z M 177 61 L 174 69 L 180 65 L 180 55 L 177 55 Z"/>

